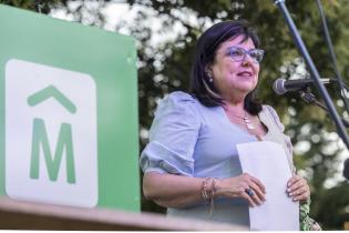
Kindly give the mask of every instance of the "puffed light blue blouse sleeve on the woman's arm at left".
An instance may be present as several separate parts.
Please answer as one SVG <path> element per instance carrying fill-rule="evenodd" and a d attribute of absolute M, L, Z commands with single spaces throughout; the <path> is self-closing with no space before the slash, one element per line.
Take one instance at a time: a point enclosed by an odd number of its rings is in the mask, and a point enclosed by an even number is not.
<path fill-rule="evenodd" d="M 173 92 L 160 103 L 150 143 L 140 159 L 143 172 L 193 176 L 193 154 L 201 126 L 195 104 L 193 97 L 184 92 Z"/>

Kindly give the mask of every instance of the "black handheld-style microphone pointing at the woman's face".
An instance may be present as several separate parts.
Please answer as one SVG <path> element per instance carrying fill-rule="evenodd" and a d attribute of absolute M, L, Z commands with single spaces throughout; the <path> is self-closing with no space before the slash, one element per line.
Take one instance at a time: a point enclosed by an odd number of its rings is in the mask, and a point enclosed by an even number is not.
<path fill-rule="evenodd" d="M 333 79 L 320 79 L 324 84 L 328 84 L 336 80 Z M 273 90 L 278 95 L 285 94 L 288 91 L 299 91 L 310 84 L 314 83 L 312 79 L 296 79 L 296 80 L 285 80 L 285 79 L 277 79 L 273 83 Z"/>

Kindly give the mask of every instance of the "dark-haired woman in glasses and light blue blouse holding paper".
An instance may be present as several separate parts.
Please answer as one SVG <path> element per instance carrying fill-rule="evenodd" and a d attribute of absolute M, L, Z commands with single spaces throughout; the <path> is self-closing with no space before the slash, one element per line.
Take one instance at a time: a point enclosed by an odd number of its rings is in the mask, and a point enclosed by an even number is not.
<path fill-rule="evenodd" d="M 158 105 L 141 155 L 143 191 L 167 215 L 248 225 L 248 205 L 266 200 L 264 184 L 242 172 L 237 143 L 280 143 L 294 171 L 291 144 L 275 110 L 256 100 L 264 51 L 245 21 L 220 22 L 198 39 L 191 94 L 174 92 Z M 295 174 L 286 192 L 310 195 Z"/>

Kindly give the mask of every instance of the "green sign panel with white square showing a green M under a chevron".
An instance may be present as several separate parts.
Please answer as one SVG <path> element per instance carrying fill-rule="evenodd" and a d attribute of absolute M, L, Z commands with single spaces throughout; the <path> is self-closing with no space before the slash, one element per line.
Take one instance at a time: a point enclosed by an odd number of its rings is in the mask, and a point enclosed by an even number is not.
<path fill-rule="evenodd" d="M 0 6 L 0 195 L 140 211 L 131 37 Z"/>

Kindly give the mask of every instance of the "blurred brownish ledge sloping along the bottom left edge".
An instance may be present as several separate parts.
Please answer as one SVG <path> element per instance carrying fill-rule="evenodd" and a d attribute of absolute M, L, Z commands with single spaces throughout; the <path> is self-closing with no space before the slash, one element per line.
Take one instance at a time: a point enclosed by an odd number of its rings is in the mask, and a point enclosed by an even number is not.
<path fill-rule="evenodd" d="M 0 197 L 0 229 L 61 231 L 248 231 L 245 226 L 208 223 L 161 214 L 111 209 L 66 207 Z"/>

